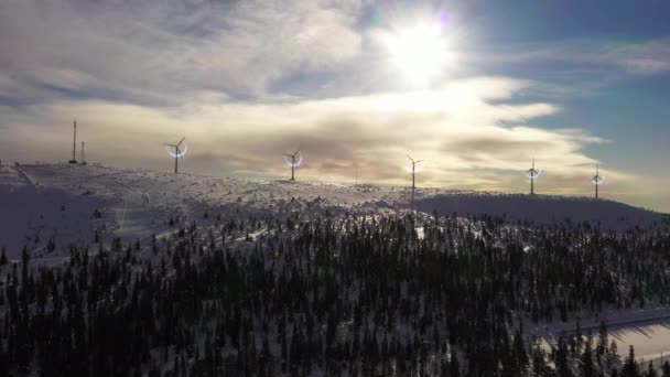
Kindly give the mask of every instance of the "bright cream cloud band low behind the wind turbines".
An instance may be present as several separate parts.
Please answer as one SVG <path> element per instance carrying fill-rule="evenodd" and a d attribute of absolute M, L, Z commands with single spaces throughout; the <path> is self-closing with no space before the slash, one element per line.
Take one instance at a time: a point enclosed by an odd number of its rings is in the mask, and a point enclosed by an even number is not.
<path fill-rule="evenodd" d="M 184 169 L 217 175 L 283 176 L 280 153 L 300 148 L 306 158 L 300 174 L 320 179 L 346 180 L 356 162 L 367 181 L 403 184 L 407 152 L 426 160 L 424 185 L 508 190 L 511 174 L 521 186 L 520 172 L 533 157 L 556 177 L 556 187 L 560 180 L 588 176 L 596 160 L 583 149 L 607 141 L 583 130 L 530 125 L 560 108 L 507 103 L 527 85 L 480 77 L 437 89 L 281 104 L 215 97 L 209 104 L 158 109 L 64 101 L 0 114 L 12 122 L 8 146 L 21 146 L 6 152 L 31 160 L 65 160 L 76 115 L 90 159 L 123 166 L 168 169 L 161 142 L 186 136 L 191 150 Z M 631 177 L 614 171 L 610 176 Z"/>

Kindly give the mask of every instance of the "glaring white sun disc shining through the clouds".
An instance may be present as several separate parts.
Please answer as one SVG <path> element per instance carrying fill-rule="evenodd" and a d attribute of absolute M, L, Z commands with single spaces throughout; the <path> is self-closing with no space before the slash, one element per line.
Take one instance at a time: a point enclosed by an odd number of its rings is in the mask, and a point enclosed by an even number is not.
<path fill-rule="evenodd" d="M 446 41 L 440 24 L 422 23 L 399 30 L 386 43 L 393 64 L 408 78 L 424 83 L 441 73 Z"/>

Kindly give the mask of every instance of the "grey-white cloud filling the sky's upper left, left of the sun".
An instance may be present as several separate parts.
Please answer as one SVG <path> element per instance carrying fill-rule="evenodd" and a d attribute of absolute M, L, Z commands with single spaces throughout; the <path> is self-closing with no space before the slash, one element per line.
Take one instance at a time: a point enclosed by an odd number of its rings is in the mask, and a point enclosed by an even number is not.
<path fill-rule="evenodd" d="M 161 106 L 197 91 L 268 96 L 287 75 L 355 57 L 356 13 L 353 2 L 8 0 L 0 90 L 35 101 L 54 89 L 52 99 L 67 91 Z M 24 89 L 9 91 L 17 83 Z"/>

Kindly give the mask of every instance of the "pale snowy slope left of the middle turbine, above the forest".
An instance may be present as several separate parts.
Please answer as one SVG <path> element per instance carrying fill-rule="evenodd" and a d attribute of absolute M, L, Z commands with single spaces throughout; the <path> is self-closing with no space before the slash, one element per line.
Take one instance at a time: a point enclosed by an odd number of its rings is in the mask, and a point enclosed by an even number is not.
<path fill-rule="evenodd" d="M 96 165 L 3 166 L 0 208 L 8 216 L 0 224 L 0 246 L 18 258 L 23 246 L 32 248 L 35 240 L 52 236 L 60 246 L 88 244 L 95 229 L 123 239 L 144 238 L 166 230 L 170 218 L 207 225 L 219 215 L 283 216 L 371 205 L 383 211 L 402 207 L 390 203 L 403 196 L 392 187 L 320 182 L 251 182 Z"/>

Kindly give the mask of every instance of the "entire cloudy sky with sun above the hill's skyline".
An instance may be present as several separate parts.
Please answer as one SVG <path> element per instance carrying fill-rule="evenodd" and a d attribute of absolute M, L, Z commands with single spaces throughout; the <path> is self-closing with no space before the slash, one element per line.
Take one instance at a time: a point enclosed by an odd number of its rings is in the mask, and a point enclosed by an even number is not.
<path fill-rule="evenodd" d="M 3 0 L 0 159 L 593 195 L 670 213 L 670 3 Z"/>

